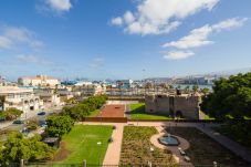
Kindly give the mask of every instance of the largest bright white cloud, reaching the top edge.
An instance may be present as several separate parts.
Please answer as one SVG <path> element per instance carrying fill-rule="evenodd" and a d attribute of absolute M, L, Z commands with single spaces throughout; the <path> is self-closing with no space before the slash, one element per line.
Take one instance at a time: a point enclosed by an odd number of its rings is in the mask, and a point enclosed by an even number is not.
<path fill-rule="evenodd" d="M 135 12 L 112 19 L 130 34 L 163 34 L 174 31 L 181 20 L 201 10 L 211 11 L 219 0 L 140 0 Z"/>

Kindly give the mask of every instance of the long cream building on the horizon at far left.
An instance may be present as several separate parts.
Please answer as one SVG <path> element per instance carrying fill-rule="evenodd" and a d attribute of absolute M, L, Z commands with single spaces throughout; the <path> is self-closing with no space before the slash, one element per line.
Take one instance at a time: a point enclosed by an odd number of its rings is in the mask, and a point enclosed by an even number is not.
<path fill-rule="evenodd" d="M 60 81 L 55 77 L 46 75 L 36 75 L 35 77 L 20 77 L 18 80 L 19 85 L 23 86 L 52 86 L 60 84 Z"/>

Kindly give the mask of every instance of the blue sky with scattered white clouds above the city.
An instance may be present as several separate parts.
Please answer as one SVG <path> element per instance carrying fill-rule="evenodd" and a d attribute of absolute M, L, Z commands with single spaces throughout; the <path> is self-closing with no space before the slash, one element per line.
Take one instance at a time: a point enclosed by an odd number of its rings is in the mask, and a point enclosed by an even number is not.
<path fill-rule="evenodd" d="M 0 75 L 142 79 L 251 66 L 250 0 L 1 0 Z"/>

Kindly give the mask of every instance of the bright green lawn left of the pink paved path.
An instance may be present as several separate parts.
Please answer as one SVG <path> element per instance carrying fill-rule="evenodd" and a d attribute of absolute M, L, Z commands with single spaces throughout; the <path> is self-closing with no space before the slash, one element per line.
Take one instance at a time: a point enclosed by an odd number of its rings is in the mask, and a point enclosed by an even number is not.
<path fill-rule="evenodd" d="M 101 163 L 104 159 L 112 132 L 112 126 L 74 126 L 73 129 L 62 138 L 62 142 L 65 143 L 66 150 L 62 152 L 62 149 L 60 149 L 57 155 L 62 156 L 61 154 L 67 153 L 67 156 L 59 163 L 79 164 L 86 159 L 87 164 L 98 165 L 98 157 L 101 157 Z M 97 146 L 98 142 L 102 142 L 101 147 Z"/>

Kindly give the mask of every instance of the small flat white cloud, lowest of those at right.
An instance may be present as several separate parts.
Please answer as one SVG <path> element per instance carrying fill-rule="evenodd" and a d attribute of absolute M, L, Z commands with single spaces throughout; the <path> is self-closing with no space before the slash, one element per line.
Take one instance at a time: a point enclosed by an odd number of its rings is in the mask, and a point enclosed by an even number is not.
<path fill-rule="evenodd" d="M 167 60 L 184 60 L 189 56 L 195 55 L 191 51 L 170 51 L 166 55 L 164 55 L 164 59 Z"/>

